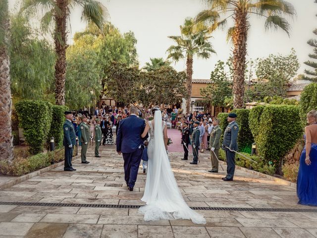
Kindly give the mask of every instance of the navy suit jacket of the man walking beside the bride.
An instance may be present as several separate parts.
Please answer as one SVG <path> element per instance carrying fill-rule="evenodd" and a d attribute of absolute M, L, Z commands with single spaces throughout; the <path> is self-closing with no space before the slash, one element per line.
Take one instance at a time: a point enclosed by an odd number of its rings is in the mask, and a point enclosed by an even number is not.
<path fill-rule="evenodd" d="M 134 115 L 120 121 L 116 138 L 117 151 L 132 153 L 143 144 L 141 134 L 145 128 L 145 120 Z"/>

